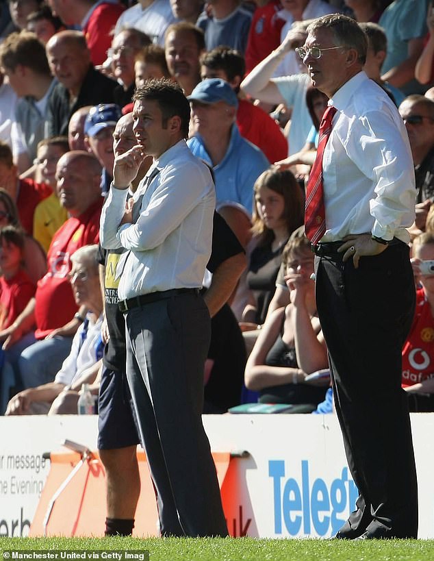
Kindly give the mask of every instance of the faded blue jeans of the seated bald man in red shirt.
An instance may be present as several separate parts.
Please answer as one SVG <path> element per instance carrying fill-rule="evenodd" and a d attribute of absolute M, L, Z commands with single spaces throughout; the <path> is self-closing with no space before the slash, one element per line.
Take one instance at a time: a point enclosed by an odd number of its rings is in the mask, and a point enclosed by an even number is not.
<path fill-rule="evenodd" d="M 23 388 L 36 388 L 53 382 L 71 352 L 72 337 L 42 339 L 25 348 L 18 359 Z"/>

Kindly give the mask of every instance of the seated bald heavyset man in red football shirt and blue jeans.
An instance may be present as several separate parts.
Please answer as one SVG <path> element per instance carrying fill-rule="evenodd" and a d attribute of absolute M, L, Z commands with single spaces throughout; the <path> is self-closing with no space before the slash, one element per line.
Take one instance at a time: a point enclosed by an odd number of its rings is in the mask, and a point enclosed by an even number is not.
<path fill-rule="evenodd" d="M 3 349 L 18 345 L 21 350 L 18 369 L 25 388 L 51 382 L 68 356 L 85 312 L 81 308 L 77 312 L 68 281 L 71 255 L 99 241 L 103 197 L 98 160 L 83 151 L 67 152 L 58 162 L 56 176 L 60 204 L 71 218 L 53 236 L 47 273 L 38 281 L 35 297 L 13 325 L 0 332 Z"/>

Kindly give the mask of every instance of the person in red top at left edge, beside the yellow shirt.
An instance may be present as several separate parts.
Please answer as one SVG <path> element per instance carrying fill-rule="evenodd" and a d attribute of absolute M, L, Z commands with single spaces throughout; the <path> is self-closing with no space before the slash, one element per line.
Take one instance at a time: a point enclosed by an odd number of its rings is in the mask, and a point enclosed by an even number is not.
<path fill-rule="evenodd" d="M 8 191 L 16 203 L 18 216 L 25 232 L 33 234 L 33 217 L 35 208 L 43 199 L 53 192 L 44 183 L 36 183 L 34 179 L 18 179 L 18 169 L 12 161 L 10 147 L 0 141 L 0 187 Z"/>

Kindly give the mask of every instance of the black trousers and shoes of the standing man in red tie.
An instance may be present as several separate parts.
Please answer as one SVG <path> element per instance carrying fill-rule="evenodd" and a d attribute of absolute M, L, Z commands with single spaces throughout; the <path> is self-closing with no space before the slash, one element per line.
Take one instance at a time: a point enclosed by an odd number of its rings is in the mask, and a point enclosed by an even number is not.
<path fill-rule="evenodd" d="M 409 248 L 316 257 L 316 303 L 346 458 L 360 497 L 343 530 L 416 538 L 418 489 L 401 350 L 415 305 Z"/>

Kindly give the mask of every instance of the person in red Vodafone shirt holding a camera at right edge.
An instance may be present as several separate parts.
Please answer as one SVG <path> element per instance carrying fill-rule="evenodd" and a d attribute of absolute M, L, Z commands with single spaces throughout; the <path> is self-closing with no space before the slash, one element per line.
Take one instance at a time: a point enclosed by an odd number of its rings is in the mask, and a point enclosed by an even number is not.
<path fill-rule="evenodd" d="M 402 385 L 410 411 L 428 412 L 434 411 L 434 234 L 414 238 L 411 253 L 418 290 L 413 325 L 403 347 Z"/>

